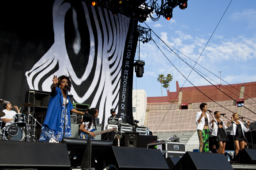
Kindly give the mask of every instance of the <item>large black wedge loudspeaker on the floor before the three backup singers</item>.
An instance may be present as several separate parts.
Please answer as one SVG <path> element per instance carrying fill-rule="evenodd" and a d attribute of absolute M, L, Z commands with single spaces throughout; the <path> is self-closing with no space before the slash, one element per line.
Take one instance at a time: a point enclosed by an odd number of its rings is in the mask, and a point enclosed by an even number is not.
<path fill-rule="evenodd" d="M 233 170 L 224 154 L 186 152 L 172 170 Z"/>

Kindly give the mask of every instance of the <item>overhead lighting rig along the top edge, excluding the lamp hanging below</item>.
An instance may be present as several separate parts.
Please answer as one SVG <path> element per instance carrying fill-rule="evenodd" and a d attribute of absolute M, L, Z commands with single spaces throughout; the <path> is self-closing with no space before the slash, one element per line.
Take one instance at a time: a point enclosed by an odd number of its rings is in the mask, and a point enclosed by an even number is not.
<path fill-rule="evenodd" d="M 113 15 L 124 14 L 128 18 L 135 16 L 139 22 L 144 22 L 150 17 L 157 21 L 162 15 L 168 21 L 173 17 L 173 8 L 181 9 L 188 7 L 188 0 L 83 0 L 93 6 L 109 9 Z M 154 18 L 154 12 L 157 17 Z"/>

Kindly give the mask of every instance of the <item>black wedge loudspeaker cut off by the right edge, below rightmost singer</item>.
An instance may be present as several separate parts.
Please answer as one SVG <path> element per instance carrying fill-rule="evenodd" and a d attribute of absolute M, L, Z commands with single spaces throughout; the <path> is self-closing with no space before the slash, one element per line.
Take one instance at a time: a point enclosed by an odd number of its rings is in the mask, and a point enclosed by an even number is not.
<path fill-rule="evenodd" d="M 256 164 L 256 150 L 244 148 L 232 161 L 239 161 L 241 164 Z"/>

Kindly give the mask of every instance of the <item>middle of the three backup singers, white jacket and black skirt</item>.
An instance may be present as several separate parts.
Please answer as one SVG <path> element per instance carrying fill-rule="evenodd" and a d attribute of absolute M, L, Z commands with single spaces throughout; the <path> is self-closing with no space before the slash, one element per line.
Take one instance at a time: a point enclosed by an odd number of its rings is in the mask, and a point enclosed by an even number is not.
<path fill-rule="evenodd" d="M 225 154 L 226 142 L 229 141 L 226 133 L 227 126 L 220 119 L 220 112 L 214 112 L 214 116 L 215 122 L 210 125 L 211 129 L 213 129 L 211 134 L 214 136 L 214 142 L 217 142 L 219 145 L 218 153 Z"/>

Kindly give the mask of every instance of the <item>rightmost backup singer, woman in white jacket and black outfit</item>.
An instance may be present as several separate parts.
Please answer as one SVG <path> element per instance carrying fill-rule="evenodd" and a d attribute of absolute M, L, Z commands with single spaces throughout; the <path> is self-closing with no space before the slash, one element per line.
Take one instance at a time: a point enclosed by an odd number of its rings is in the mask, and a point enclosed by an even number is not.
<path fill-rule="evenodd" d="M 249 125 L 250 125 L 250 121 L 247 122 L 247 127 L 245 127 L 245 125 L 238 120 L 239 115 L 237 113 L 234 113 L 231 116 L 231 120 L 230 123 L 233 124 L 233 128 L 231 130 L 231 135 L 234 135 L 235 138 L 235 147 L 236 147 L 236 151 L 235 151 L 235 156 L 237 155 L 237 153 L 239 152 L 239 150 L 241 151 L 243 148 L 245 148 L 245 132 L 248 131 L 249 129 Z"/>

